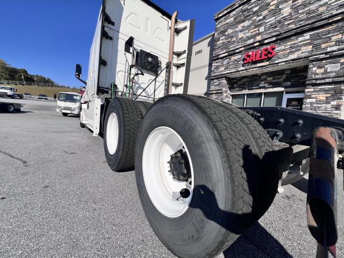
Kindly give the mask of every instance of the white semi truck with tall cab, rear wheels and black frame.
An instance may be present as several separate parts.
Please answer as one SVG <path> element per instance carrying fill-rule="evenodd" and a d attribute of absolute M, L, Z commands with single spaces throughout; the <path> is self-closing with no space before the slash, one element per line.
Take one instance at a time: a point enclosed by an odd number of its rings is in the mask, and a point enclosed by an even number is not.
<path fill-rule="evenodd" d="M 240 110 L 189 94 L 202 92 L 189 80 L 193 31 L 193 20 L 180 21 L 149 0 L 103 0 L 87 80 L 79 64 L 75 74 L 86 84 L 81 126 L 103 138 L 113 171 L 135 170 L 152 229 L 173 254 L 188 258 L 228 248 L 269 208 L 279 182 L 312 171 L 312 132 L 344 127 L 339 119 L 279 107 Z M 334 242 L 326 236 L 335 234 L 328 226 L 336 220 L 317 216 L 326 200 L 312 198 L 335 195 L 326 189 L 313 189 L 308 199 L 310 230 L 323 250 Z"/>

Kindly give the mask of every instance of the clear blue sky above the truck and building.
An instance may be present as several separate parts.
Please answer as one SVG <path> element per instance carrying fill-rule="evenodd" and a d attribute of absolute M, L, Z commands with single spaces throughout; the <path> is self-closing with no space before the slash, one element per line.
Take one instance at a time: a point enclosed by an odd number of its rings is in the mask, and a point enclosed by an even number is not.
<path fill-rule="evenodd" d="M 101 0 L 0 0 L 0 59 L 71 87 L 75 63 L 87 71 Z M 196 19 L 195 37 L 214 31 L 213 15 L 232 0 L 153 0 L 181 20 Z M 86 78 L 86 74 L 83 75 Z"/>

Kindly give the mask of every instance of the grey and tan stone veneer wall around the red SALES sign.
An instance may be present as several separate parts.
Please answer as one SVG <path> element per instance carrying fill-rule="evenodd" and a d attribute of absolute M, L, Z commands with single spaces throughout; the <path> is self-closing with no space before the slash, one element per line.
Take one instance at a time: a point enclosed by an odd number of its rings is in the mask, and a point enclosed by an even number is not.
<path fill-rule="evenodd" d="M 303 109 L 341 116 L 343 16 L 344 0 L 237 0 L 214 17 L 210 97 L 229 101 L 230 74 L 307 61 Z M 243 65 L 246 52 L 270 45 L 276 46 L 275 57 Z"/>

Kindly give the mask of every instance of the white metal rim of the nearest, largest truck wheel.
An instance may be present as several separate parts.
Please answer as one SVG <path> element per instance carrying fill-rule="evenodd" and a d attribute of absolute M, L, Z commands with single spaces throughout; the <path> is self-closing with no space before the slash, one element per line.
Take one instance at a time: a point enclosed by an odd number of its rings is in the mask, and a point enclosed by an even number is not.
<path fill-rule="evenodd" d="M 191 178 L 186 182 L 173 179 L 167 163 L 170 155 L 179 149 L 186 151 L 189 159 Z M 194 170 L 187 146 L 174 130 L 162 126 L 150 133 L 143 148 L 142 169 L 144 184 L 154 206 L 167 217 L 181 216 L 192 199 Z M 180 197 L 180 190 L 184 188 L 190 191 L 188 198 Z"/>

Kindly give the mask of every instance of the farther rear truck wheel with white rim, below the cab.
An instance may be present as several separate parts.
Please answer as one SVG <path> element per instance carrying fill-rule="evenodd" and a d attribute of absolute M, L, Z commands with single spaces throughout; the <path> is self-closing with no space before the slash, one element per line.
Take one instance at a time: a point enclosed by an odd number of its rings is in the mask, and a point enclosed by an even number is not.
<path fill-rule="evenodd" d="M 134 170 L 135 143 L 141 121 L 141 111 L 133 100 L 114 98 L 110 102 L 104 123 L 104 151 L 113 171 Z"/>

